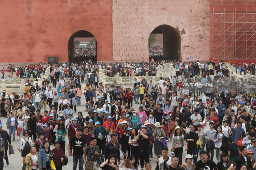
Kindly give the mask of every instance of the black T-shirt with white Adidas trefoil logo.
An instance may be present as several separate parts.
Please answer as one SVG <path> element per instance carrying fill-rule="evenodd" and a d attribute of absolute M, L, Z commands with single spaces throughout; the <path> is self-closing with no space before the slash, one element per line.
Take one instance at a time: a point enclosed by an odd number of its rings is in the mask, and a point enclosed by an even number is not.
<path fill-rule="evenodd" d="M 86 142 L 85 139 L 80 137 L 79 139 L 74 136 L 70 141 L 69 141 L 71 147 L 74 149 L 73 155 L 80 156 L 83 155 L 83 147 L 85 146 Z"/>

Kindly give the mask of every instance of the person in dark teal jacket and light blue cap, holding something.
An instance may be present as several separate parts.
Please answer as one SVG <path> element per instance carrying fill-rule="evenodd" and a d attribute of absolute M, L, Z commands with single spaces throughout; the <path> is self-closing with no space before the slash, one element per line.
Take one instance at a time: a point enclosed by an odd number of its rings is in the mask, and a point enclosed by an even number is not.
<path fill-rule="evenodd" d="M 100 147 L 102 153 L 105 153 L 106 141 L 108 142 L 108 135 L 105 127 L 101 126 L 100 124 L 100 121 L 95 123 L 96 127 L 94 128 L 93 134 L 97 140 L 97 146 Z"/>

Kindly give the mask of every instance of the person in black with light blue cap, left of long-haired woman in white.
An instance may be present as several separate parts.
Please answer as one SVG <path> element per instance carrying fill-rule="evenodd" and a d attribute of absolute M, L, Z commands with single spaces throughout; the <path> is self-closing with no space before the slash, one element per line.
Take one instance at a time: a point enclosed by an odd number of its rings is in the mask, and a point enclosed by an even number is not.
<path fill-rule="evenodd" d="M 130 130 L 132 130 L 132 128 L 130 128 L 129 126 L 125 128 L 125 132 L 123 133 L 123 135 L 121 135 L 121 139 L 120 139 L 120 147 L 121 150 L 123 152 L 123 158 L 126 159 L 128 156 L 130 156 L 130 145 L 128 145 L 128 141 L 130 138 Z M 128 153 L 128 154 L 126 154 Z"/>

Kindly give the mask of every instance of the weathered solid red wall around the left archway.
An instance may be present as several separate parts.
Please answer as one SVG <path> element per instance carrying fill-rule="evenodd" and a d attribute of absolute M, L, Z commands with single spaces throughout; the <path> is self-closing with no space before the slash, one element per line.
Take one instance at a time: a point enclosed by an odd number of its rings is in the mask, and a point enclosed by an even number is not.
<path fill-rule="evenodd" d="M 0 1 L 0 62 L 68 61 L 79 30 L 96 38 L 98 60 L 113 61 L 112 0 Z"/>

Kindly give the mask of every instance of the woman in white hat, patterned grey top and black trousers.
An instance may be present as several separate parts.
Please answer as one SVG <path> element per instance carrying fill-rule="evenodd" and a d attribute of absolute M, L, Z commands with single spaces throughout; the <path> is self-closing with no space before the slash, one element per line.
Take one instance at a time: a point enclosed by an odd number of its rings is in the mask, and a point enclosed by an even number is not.
<path fill-rule="evenodd" d="M 154 154 L 157 157 L 157 160 L 159 159 L 159 155 L 162 152 L 162 148 L 163 148 L 163 144 L 162 144 L 162 140 L 164 138 L 166 138 L 166 134 L 164 132 L 164 130 L 162 129 L 162 126 L 159 122 L 156 122 L 156 124 L 154 124 L 154 126 L 156 127 L 153 133 L 153 137 L 154 139 Z"/>

